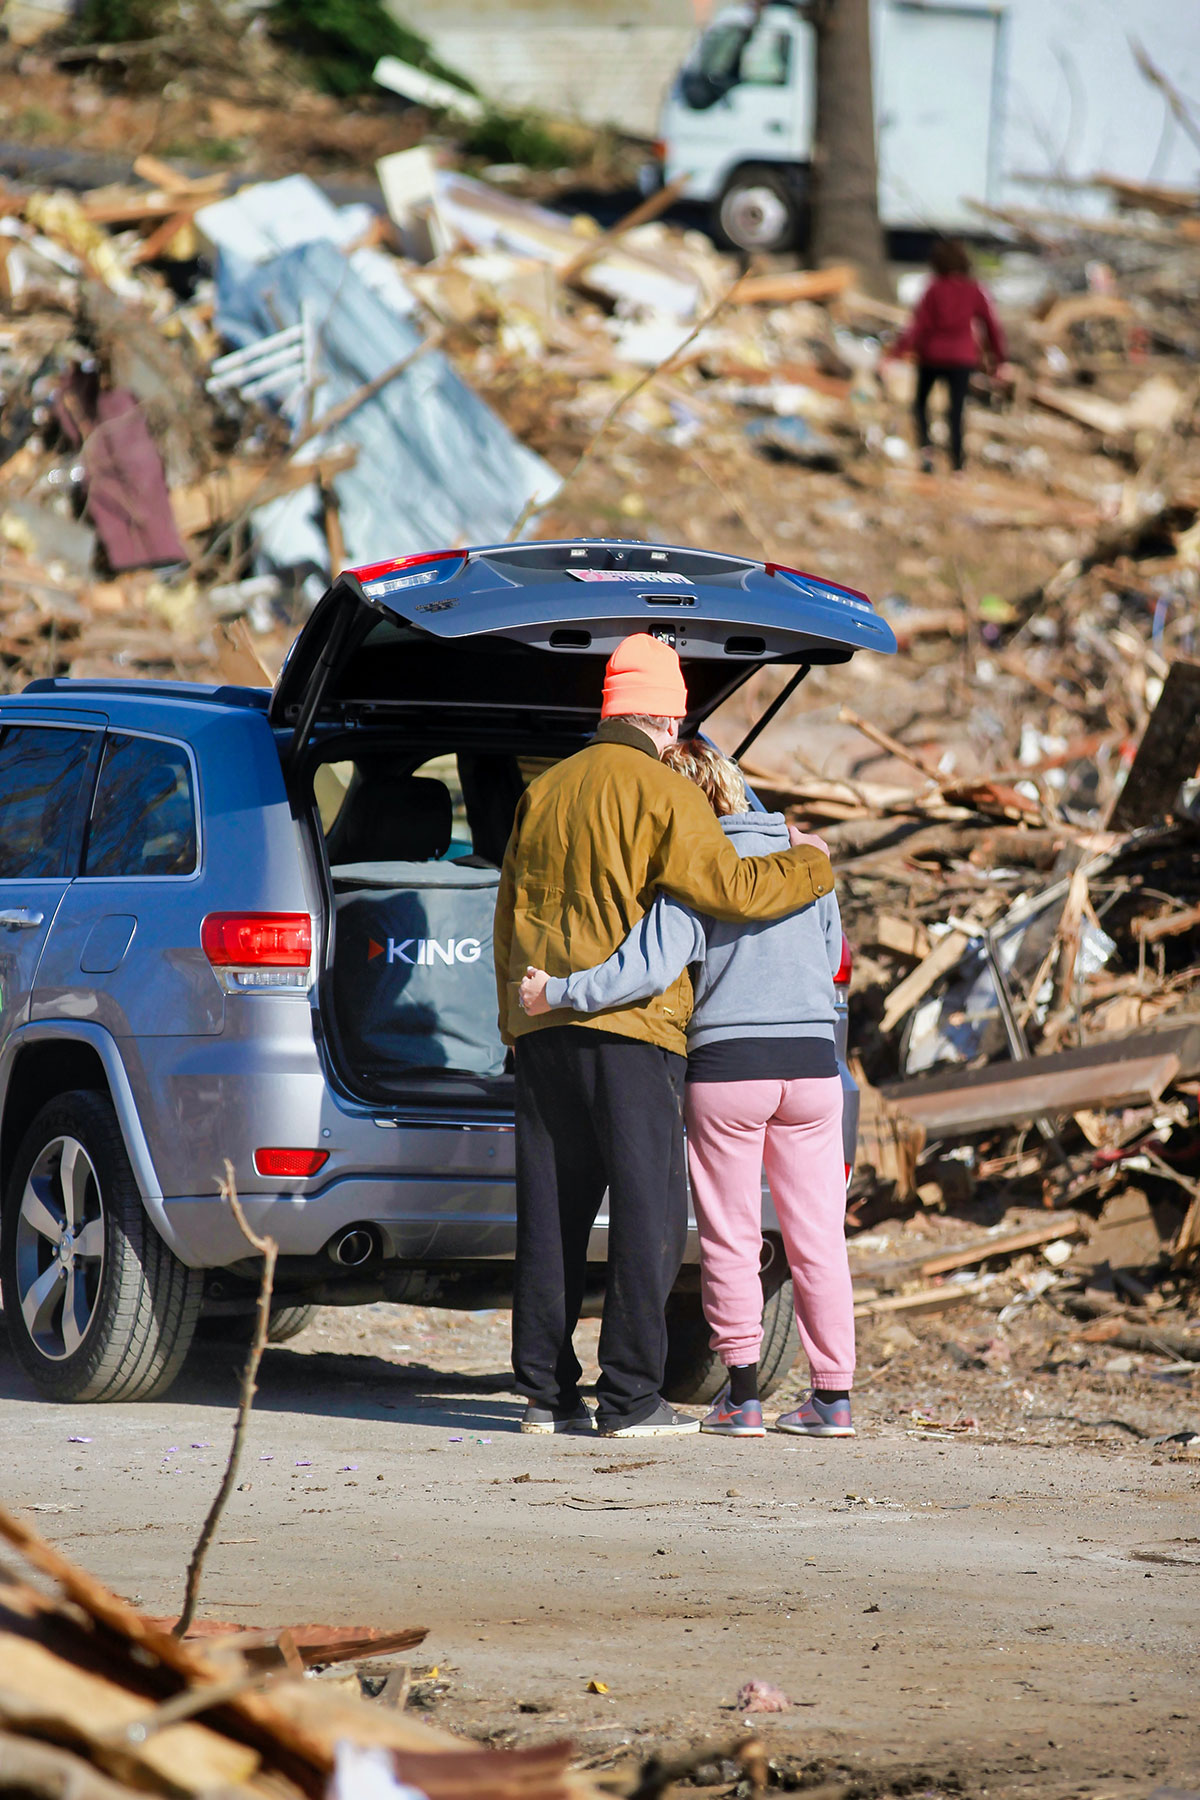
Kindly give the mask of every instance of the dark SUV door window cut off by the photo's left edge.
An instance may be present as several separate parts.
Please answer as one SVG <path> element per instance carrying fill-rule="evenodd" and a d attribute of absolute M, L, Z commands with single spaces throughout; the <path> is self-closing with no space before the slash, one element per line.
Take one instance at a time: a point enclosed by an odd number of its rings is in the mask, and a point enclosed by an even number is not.
<path fill-rule="evenodd" d="M 0 727 L 0 880 L 76 873 L 95 742 L 95 731 Z"/>

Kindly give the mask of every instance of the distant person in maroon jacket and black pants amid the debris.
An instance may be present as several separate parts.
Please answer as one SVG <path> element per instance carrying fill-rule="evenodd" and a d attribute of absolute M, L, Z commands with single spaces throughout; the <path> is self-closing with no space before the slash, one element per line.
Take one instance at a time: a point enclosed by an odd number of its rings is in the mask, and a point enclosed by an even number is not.
<path fill-rule="evenodd" d="M 939 238 L 930 250 L 934 279 L 921 295 L 892 356 L 916 356 L 918 387 L 912 416 L 918 427 L 921 468 L 932 472 L 928 443 L 928 396 L 936 382 L 946 383 L 950 405 L 950 461 L 963 468 L 963 403 L 981 351 L 990 373 L 1004 364 L 1004 333 L 991 301 L 972 275 L 972 259 L 955 238 Z"/>

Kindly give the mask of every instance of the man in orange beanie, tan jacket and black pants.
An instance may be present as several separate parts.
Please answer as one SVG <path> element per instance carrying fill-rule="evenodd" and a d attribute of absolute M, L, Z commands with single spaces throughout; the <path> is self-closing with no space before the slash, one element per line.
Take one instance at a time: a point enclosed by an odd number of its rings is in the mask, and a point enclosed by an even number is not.
<path fill-rule="evenodd" d="M 516 1060 L 513 1370 L 522 1431 L 696 1431 L 662 1399 L 666 1300 L 687 1238 L 682 1084 L 691 985 L 581 1019 L 527 1017 L 527 968 L 603 963 L 655 893 L 721 920 L 768 920 L 833 889 L 824 850 L 739 857 L 709 801 L 658 758 L 687 713 L 680 661 L 635 634 L 604 671 L 592 742 L 529 783 L 497 898 L 500 1030 Z M 596 1422 L 572 1332 L 588 1237 L 608 1190 Z"/>

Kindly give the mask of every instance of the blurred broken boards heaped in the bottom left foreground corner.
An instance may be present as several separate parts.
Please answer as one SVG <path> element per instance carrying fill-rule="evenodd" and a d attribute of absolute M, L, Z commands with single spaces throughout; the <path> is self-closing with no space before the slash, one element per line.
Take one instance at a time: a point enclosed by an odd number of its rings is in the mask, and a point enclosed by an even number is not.
<path fill-rule="evenodd" d="M 572 1744 L 491 1750 L 403 1710 L 423 1631 L 196 1629 L 180 1640 L 11 1514 L 0 1535 L 0 1793 L 588 1800 Z M 349 1670 L 338 1676 L 338 1667 Z M 317 1672 L 320 1670 L 320 1672 Z M 371 1670 L 371 1672 L 369 1672 Z M 333 1674 L 333 1679 L 329 1679 Z M 363 1699 L 371 1687 L 378 1699 Z"/>

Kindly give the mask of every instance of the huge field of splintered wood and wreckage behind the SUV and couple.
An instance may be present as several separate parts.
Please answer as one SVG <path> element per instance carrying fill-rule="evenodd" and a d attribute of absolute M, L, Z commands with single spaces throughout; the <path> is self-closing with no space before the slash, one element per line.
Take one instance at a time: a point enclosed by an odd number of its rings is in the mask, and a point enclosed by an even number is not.
<path fill-rule="evenodd" d="M 901 655 L 813 670 L 747 760 L 829 837 L 858 945 L 858 1215 L 986 1190 L 1103 1219 L 1139 1192 L 1182 1280 L 1196 196 L 1006 214 L 984 274 L 1011 373 L 977 378 L 950 477 L 919 468 L 912 371 L 885 355 L 905 308 L 851 268 L 741 268 L 657 216 L 669 189 L 601 230 L 428 146 L 378 164 L 381 205 L 302 175 L 135 175 L 0 200 L 7 682 L 263 680 L 340 567 L 520 535 L 745 549 L 867 589 Z M 747 684 L 718 742 L 777 684 Z"/>

